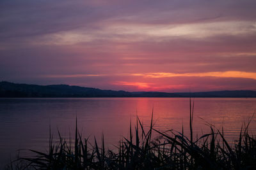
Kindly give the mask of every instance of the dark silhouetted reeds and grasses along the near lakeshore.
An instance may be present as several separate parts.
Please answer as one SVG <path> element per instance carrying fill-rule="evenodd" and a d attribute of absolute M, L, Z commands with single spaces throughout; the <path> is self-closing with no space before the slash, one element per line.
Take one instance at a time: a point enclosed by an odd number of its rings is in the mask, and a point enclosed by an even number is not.
<path fill-rule="evenodd" d="M 154 129 L 153 111 L 149 127 L 140 118 L 129 138 L 119 141 L 116 150 L 105 147 L 102 139 L 91 144 L 82 138 L 77 129 L 74 142 L 62 138 L 53 142 L 51 126 L 48 152 L 29 150 L 34 157 L 20 157 L 6 169 L 256 169 L 256 138 L 249 133 L 249 125 L 243 124 L 234 146 L 225 139 L 225 132 L 209 124 L 211 132 L 200 137 L 193 133 L 194 102 L 190 98 L 189 136 L 173 129 Z M 157 138 L 153 138 L 157 134 Z"/>

